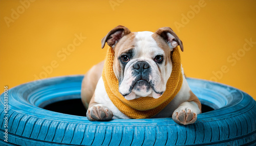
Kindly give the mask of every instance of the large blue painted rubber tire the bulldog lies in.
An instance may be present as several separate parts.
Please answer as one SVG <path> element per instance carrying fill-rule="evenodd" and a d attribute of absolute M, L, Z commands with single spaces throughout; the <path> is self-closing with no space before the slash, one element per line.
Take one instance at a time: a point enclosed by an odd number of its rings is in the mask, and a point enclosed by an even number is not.
<path fill-rule="evenodd" d="M 172 118 L 89 121 L 41 108 L 79 98 L 82 79 L 49 78 L 10 89 L 8 142 L 1 110 L 0 145 L 255 145 L 255 101 L 239 89 L 205 80 L 187 79 L 201 103 L 215 109 L 199 114 L 193 125 Z M 4 109 L 4 94 L 0 106 Z"/>

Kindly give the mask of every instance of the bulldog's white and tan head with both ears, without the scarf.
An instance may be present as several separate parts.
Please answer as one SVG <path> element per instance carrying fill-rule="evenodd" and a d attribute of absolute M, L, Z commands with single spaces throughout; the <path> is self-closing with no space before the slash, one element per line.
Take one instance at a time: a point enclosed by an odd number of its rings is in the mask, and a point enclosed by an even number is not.
<path fill-rule="evenodd" d="M 173 48 L 182 42 L 170 28 L 153 32 L 130 32 L 118 26 L 102 39 L 115 51 L 113 70 L 119 92 L 126 100 L 144 96 L 159 98 L 172 73 Z"/>

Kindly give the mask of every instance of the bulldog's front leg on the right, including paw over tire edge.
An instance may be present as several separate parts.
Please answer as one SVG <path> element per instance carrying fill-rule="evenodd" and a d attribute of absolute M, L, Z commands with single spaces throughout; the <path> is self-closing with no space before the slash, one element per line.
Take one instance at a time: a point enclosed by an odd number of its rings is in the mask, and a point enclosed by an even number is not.
<path fill-rule="evenodd" d="M 197 120 L 197 115 L 201 113 L 201 103 L 197 96 L 190 91 L 190 98 L 182 103 L 174 112 L 173 120 L 178 124 L 193 124 Z"/>

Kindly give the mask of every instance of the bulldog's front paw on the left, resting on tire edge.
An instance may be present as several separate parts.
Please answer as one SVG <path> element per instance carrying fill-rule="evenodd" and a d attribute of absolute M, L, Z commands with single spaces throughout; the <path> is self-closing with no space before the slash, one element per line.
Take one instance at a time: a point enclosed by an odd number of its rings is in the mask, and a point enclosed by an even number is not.
<path fill-rule="evenodd" d="M 88 109 L 86 116 L 89 120 L 109 120 L 114 115 L 108 107 L 98 104 Z"/>

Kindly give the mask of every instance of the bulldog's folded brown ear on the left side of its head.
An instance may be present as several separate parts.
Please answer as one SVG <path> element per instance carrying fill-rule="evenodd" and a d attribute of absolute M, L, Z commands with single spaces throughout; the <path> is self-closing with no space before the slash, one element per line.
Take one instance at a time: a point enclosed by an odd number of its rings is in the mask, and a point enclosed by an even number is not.
<path fill-rule="evenodd" d="M 101 48 L 105 46 L 105 42 L 109 46 L 115 45 L 123 36 L 129 33 L 131 33 L 131 31 L 124 26 L 115 27 L 105 37 L 101 39 Z"/>

